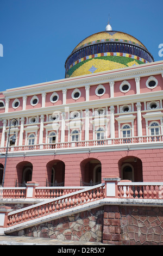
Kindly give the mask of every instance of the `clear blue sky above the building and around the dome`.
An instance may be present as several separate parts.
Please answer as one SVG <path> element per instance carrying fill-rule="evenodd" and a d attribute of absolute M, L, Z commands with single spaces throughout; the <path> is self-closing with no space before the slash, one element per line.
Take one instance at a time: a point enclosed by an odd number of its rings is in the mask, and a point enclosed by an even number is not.
<path fill-rule="evenodd" d="M 162 0 L 1 0 L 0 90 L 59 80 L 65 60 L 87 36 L 112 30 L 135 36 L 159 57 Z"/>

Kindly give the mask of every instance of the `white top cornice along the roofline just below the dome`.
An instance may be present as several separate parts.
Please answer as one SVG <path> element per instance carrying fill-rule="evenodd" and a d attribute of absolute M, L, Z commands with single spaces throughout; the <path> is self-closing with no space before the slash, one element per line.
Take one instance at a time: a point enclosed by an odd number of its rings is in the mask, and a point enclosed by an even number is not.
<path fill-rule="evenodd" d="M 43 92 L 56 92 L 62 89 L 79 88 L 91 86 L 93 84 L 107 83 L 111 81 L 123 81 L 135 77 L 162 74 L 163 62 L 152 62 L 131 66 L 123 69 L 103 71 L 92 75 L 64 78 L 62 80 L 51 81 L 47 83 L 33 84 L 30 86 L 8 89 L 3 92 L 4 96 L 11 99 L 13 97 L 22 97 L 24 95 L 41 94 Z"/>

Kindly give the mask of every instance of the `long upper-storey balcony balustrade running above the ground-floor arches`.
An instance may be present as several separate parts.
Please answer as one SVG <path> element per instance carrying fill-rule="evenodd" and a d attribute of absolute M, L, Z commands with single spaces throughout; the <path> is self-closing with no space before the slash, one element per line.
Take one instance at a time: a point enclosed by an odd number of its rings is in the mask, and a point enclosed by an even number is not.
<path fill-rule="evenodd" d="M 141 137 L 127 137 L 127 138 L 107 138 L 102 140 L 90 140 L 79 142 L 63 142 L 54 144 L 35 144 L 11 146 L 9 152 L 17 151 L 31 151 L 31 150 L 56 150 L 56 149 L 70 149 L 82 147 L 102 147 L 109 145 L 124 145 L 124 144 L 142 144 L 142 143 L 160 143 L 163 142 L 163 135 L 156 136 L 141 136 Z M 7 147 L 0 148 L 0 153 L 5 154 Z"/>

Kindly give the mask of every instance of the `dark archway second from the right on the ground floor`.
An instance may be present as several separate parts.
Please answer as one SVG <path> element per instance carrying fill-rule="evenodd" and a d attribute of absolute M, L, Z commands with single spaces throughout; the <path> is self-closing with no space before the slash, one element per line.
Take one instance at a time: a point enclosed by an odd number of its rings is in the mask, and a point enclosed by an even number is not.
<path fill-rule="evenodd" d="M 80 163 L 82 179 L 81 186 L 91 186 L 101 183 L 101 162 L 98 159 L 85 159 Z"/>

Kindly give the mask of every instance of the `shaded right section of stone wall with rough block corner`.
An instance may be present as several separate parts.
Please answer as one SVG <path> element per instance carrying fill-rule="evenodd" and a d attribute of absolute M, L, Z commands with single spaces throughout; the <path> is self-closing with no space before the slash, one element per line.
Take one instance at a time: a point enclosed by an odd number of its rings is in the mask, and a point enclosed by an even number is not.
<path fill-rule="evenodd" d="M 105 206 L 103 243 L 163 245 L 163 208 Z"/>

